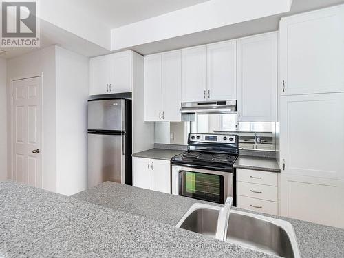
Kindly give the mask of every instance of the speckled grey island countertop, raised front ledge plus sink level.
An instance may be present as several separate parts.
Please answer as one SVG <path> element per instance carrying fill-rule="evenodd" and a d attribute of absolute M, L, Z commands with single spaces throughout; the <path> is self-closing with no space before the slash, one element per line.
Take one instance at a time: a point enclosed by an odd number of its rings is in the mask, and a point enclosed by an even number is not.
<path fill-rule="evenodd" d="M 0 182 L 0 256 L 273 257 L 175 228 L 189 205 L 191 199 L 112 182 L 74 197 Z M 343 255 L 344 230 L 289 221 L 303 257 Z"/>

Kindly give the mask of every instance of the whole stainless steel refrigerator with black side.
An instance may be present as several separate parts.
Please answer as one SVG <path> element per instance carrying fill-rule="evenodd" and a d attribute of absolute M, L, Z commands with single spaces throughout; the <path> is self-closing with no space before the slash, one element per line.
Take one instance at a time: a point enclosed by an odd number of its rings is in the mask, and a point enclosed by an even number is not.
<path fill-rule="evenodd" d="M 88 101 L 88 187 L 132 184 L 131 100 Z"/>

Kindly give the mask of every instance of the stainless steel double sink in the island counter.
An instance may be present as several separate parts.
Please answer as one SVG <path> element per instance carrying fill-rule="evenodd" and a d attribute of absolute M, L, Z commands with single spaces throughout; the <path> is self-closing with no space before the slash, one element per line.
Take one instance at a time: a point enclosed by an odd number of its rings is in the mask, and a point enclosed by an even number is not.
<path fill-rule="evenodd" d="M 215 237 L 221 207 L 193 204 L 177 227 Z M 226 241 L 281 257 L 300 258 L 294 228 L 289 222 L 243 211 L 230 211 Z"/>

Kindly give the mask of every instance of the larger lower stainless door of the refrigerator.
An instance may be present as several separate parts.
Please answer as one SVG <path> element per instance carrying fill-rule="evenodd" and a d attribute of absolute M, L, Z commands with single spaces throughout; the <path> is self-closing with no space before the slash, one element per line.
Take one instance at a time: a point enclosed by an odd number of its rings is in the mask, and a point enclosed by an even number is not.
<path fill-rule="evenodd" d="M 125 135 L 88 134 L 88 188 L 105 181 L 125 184 Z"/>

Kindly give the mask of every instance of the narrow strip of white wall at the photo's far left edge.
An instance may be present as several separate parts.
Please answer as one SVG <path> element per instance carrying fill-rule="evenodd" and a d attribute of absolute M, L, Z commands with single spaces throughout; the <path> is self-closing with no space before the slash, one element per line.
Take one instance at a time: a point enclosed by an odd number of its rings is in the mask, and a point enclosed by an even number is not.
<path fill-rule="evenodd" d="M 7 179 L 6 60 L 0 58 L 0 181 Z"/>

